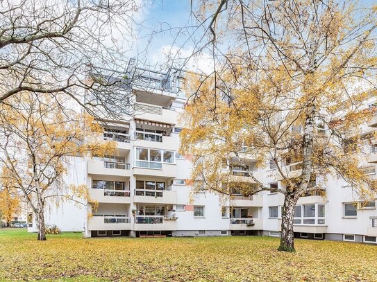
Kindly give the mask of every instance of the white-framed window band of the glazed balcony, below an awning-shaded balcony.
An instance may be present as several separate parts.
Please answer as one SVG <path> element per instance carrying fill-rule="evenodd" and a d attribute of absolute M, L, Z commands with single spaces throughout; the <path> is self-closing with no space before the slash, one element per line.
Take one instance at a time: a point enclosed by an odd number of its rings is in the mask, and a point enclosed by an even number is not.
<path fill-rule="evenodd" d="M 136 148 L 135 166 L 160 169 L 162 163 L 175 164 L 174 155 L 174 151 Z"/>

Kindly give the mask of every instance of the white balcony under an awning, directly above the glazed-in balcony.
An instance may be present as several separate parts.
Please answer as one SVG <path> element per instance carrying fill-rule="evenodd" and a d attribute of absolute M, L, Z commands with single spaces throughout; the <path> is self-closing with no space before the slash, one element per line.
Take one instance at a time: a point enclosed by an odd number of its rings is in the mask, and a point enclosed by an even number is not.
<path fill-rule="evenodd" d="M 135 132 L 135 146 L 153 149 L 177 150 L 176 139 L 153 132 Z"/>

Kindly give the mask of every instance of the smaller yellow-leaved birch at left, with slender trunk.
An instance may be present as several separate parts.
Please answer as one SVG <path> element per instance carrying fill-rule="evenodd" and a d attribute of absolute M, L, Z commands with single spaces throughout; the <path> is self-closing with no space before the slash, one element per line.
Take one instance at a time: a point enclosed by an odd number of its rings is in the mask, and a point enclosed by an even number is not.
<path fill-rule="evenodd" d="M 113 142 L 98 140 L 102 129 L 94 118 L 70 109 L 72 100 L 64 97 L 22 93 L 0 108 L 1 181 L 31 206 L 38 240 L 46 240 L 47 204 L 67 200 L 86 204 L 90 200 L 85 185 L 65 182 L 70 162 L 90 154 L 115 153 Z"/>

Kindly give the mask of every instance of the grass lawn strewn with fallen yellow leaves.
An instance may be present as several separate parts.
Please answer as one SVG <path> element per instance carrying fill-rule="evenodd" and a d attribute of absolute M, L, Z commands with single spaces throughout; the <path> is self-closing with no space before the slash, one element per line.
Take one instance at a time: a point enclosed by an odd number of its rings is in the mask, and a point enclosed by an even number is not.
<path fill-rule="evenodd" d="M 377 281 L 377 246 L 278 238 L 97 238 L 62 233 L 37 242 L 0 229 L 0 281 Z"/>

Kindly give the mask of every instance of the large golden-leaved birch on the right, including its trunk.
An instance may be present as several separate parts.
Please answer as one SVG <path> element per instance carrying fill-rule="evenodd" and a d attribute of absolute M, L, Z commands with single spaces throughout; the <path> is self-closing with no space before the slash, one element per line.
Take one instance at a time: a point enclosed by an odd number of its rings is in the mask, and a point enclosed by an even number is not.
<path fill-rule="evenodd" d="M 377 8 L 354 1 L 204 1 L 197 18 L 206 26 L 199 51 L 214 59 L 208 76 L 190 76 L 187 130 L 182 150 L 194 155 L 192 180 L 232 195 L 283 193 L 281 251 L 294 251 L 294 206 L 321 190 L 315 179 L 343 178 L 360 198 L 376 184 L 362 171 L 363 135 L 376 96 Z M 206 39 L 208 39 L 206 41 Z M 365 128 L 365 127 L 364 127 Z M 199 143 L 198 143 L 199 142 Z M 349 150 L 353 147 L 354 153 Z M 228 159 L 245 154 L 282 189 L 258 177 L 230 181 Z M 294 166 L 292 166 L 294 164 Z"/>

